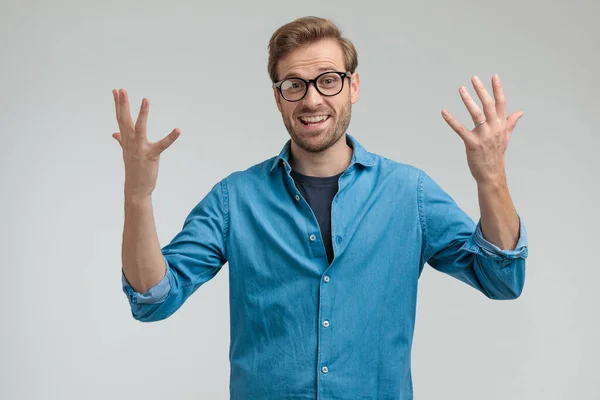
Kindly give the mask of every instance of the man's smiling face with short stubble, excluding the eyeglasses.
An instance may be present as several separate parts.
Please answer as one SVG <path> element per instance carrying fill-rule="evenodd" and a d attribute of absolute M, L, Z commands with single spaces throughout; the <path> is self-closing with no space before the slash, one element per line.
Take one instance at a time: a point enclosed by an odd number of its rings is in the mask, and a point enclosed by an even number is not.
<path fill-rule="evenodd" d="M 277 79 L 313 79 L 325 71 L 346 72 L 342 48 L 334 40 L 322 40 L 292 51 L 277 63 Z M 336 96 L 323 96 L 309 85 L 306 96 L 289 102 L 273 88 L 277 108 L 293 142 L 301 149 L 318 153 L 334 145 L 350 124 L 352 104 L 358 100 L 358 73 L 344 78 L 344 88 Z M 318 124 L 307 124 L 302 117 L 325 116 Z"/>

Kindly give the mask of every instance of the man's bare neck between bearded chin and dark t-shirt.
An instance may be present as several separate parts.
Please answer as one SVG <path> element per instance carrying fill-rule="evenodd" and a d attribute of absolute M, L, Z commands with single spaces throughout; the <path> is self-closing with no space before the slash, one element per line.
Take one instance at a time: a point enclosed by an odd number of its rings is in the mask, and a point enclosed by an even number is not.
<path fill-rule="evenodd" d="M 344 172 L 352 160 L 352 148 L 346 143 L 346 134 L 330 148 L 319 153 L 301 149 L 292 140 L 289 162 L 294 171 L 308 176 L 333 176 Z"/>

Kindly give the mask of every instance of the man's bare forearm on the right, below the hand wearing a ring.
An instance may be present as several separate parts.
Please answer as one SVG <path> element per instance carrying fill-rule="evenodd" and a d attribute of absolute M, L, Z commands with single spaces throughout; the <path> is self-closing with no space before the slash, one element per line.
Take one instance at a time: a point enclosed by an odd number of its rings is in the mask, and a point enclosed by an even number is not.
<path fill-rule="evenodd" d="M 477 193 L 483 237 L 502 250 L 514 250 L 519 239 L 519 217 L 506 178 L 479 182 Z"/>

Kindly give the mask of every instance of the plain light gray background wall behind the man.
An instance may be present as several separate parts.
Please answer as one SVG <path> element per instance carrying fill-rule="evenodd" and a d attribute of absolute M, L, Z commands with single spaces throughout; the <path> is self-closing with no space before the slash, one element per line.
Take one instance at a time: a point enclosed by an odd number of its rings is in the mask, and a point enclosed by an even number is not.
<path fill-rule="evenodd" d="M 267 43 L 297 17 L 332 18 L 359 54 L 349 132 L 427 171 L 474 219 L 458 88 L 498 73 L 523 111 L 506 156 L 529 233 L 525 289 L 492 301 L 426 266 L 412 352 L 415 398 L 600 399 L 600 6 L 588 1 L 2 1 L 0 398 L 226 399 L 229 269 L 173 316 L 144 324 L 121 291 L 124 166 L 112 89 L 161 157 L 161 246 L 227 174 L 289 136 Z M 479 102 L 479 100 L 477 99 Z"/>

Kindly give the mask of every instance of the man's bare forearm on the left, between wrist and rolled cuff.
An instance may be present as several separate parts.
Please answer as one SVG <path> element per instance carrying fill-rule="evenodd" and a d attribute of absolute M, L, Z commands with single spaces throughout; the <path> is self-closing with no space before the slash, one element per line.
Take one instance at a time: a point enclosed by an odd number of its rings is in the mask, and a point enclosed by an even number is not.
<path fill-rule="evenodd" d="M 125 196 L 121 257 L 125 278 L 139 293 L 146 293 L 165 276 L 151 196 L 136 199 Z"/>

